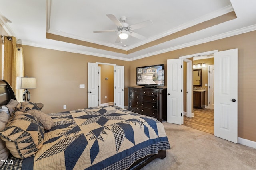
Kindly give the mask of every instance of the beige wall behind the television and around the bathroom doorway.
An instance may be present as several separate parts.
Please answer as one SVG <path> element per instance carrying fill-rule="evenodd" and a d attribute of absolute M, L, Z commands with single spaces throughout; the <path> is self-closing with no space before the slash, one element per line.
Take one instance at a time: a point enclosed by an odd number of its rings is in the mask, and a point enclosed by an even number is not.
<path fill-rule="evenodd" d="M 154 64 L 167 64 L 167 59 L 176 59 L 180 56 L 202 53 L 205 51 L 238 48 L 238 137 L 256 141 L 256 31 L 244 33 L 225 39 L 203 43 L 192 47 L 178 49 L 130 62 L 130 86 L 136 85 L 136 67 Z M 143 63 L 143 64 L 141 64 Z M 166 70 L 165 70 L 166 71 Z M 166 77 L 165 74 L 165 86 Z"/>

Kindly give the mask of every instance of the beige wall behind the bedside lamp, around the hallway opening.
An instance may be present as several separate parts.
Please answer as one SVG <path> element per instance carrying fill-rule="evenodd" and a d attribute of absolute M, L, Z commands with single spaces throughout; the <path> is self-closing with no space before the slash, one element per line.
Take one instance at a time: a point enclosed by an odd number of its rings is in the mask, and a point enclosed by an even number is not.
<path fill-rule="evenodd" d="M 21 46 L 21 45 L 18 45 Z M 124 66 L 125 105 L 128 105 L 130 62 L 31 46 L 24 49 L 25 75 L 35 76 L 37 88 L 31 101 L 42 102 L 45 113 L 69 111 L 88 106 L 88 62 Z M 85 88 L 79 88 L 85 84 Z M 63 109 L 67 105 L 67 109 Z"/>

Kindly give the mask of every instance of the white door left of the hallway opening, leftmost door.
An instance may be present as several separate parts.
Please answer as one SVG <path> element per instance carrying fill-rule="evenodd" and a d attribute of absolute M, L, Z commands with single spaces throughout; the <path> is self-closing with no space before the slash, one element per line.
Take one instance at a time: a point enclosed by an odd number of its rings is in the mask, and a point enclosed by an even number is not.
<path fill-rule="evenodd" d="M 99 71 L 97 63 L 88 63 L 88 107 L 99 106 Z"/>

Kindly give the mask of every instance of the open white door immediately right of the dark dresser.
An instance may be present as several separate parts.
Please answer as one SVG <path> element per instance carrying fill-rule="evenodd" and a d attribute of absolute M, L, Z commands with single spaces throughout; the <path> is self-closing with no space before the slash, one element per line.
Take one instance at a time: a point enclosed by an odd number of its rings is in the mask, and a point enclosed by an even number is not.
<path fill-rule="evenodd" d="M 183 59 L 167 60 L 167 122 L 183 124 Z"/>

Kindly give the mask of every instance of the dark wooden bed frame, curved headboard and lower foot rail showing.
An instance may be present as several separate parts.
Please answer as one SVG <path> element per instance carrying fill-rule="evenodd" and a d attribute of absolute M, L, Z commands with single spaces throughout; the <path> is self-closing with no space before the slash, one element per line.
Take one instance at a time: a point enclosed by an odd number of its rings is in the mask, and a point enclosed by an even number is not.
<path fill-rule="evenodd" d="M 16 96 L 12 90 L 12 87 L 5 80 L 0 80 L 0 106 L 8 104 L 8 102 L 11 99 L 16 100 Z M 152 160 L 156 158 L 164 159 L 165 157 L 166 157 L 166 150 L 160 150 L 158 151 L 158 154 L 148 155 L 144 158 L 136 160 L 136 162 L 134 162 L 132 166 L 130 166 L 128 169 L 139 170 L 142 167 L 146 166 L 146 164 L 148 164 Z"/>

